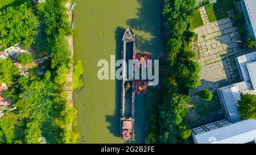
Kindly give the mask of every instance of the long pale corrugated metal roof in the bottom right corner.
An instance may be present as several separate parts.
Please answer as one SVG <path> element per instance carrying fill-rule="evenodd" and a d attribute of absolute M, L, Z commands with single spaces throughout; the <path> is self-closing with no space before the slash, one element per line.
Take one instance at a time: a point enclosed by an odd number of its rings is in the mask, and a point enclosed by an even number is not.
<path fill-rule="evenodd" d="M 243 144 L 256 139 L 256 120 L 243 120 L 212 131 L 193 135 L 199 144 Z"/>

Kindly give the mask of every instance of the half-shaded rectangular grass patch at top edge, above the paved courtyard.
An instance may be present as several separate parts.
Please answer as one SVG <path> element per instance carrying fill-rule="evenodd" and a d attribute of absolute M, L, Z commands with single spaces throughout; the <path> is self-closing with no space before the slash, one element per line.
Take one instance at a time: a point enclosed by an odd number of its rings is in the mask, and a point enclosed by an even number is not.
<path fill-rule="evenodd" d="M 232 0 L 217 0 L 217 3 L 210 3 L 205 6 L 209 22 L 228 18 L 228 11 L 233 10 L 236 13 L 236 7 Z"/>

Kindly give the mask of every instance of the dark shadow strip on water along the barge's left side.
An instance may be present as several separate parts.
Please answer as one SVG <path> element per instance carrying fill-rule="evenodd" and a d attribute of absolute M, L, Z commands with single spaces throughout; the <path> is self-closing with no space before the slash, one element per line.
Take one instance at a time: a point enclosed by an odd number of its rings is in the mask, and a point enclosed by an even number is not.
<path fill-rule="evenodd" d="M 122 50 L 122 36 L 125 32 L 125 29 L 122 27 L 117 27 L 115 30 L 115 60 L 121 59 L 121 50 Z M 117 70 L 117 68 L 116 68 Z M 106 122 L 110 125 L 108 127 L 110 133 L 112 133 L 115 137 L 120 137 L 120 118 L 121 118 L 121 82 L 115 79 L 115 112 L 114 115 L 107 115 Z"/>

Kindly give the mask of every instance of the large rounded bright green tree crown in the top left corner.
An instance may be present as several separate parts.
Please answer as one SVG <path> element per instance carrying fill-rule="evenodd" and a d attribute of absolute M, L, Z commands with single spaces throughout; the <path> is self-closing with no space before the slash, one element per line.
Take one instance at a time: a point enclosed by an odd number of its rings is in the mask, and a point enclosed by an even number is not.
<path fill-rule="evenodd" d="M 0 45 L 6 48 L 21 43 L 22 48 L 30 47 L 38 26 L 38 19 L 30 5 L 24 3 L 0 11 Z"/>

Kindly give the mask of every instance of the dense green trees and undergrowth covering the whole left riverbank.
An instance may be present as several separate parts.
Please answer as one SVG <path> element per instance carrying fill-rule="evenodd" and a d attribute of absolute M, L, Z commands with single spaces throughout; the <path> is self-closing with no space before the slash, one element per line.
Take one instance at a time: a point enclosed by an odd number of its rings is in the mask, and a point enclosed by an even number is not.
<path fill-rule="evenodd" d="M 3 92 L 3 97 L 11 99 L 16 107 L 0 119 L 0 143 L 40 143 L 40 137 L 45 137 L 47 143 L 76 143 L 79 137 L 71 129 L 77 111 L 67 103 L 63 90 L 72 62 L 65 39 L 72 33 L 65 2 L 67 0 L 48 0 L 33 5 L 24 1 L 25 5 L 7 7 L 0 13 L 0 44 L 9 46 L 20 42 L 23 47 L 29 47 L 34 42 L 36 55 L 48 55 L 50 59 L 44 63 L 44 69 L 48 69 L 44 76 L 38 76 L 34 68 L 29 70 L 28 77 L 16 76 L 18 69 L 13 61 L 0 60 L 0 82 L 9 85 L 15 81 Z M 5 22 L 12 19 L 17 23 L 15 30 L 9 26 L 11 31 L 7 33 Z M 19 37 L 11 36 L 12 33 Z M 9 37 L 2 39 L 4 35 Z M 32 57 L 23 54 L 18 61 L 27 65 Z"/>

